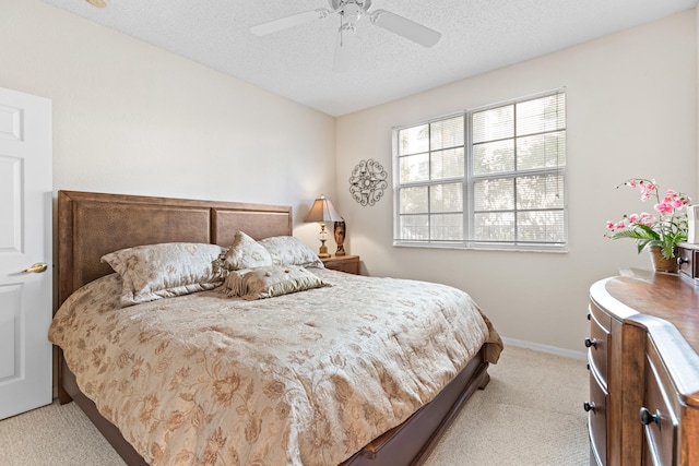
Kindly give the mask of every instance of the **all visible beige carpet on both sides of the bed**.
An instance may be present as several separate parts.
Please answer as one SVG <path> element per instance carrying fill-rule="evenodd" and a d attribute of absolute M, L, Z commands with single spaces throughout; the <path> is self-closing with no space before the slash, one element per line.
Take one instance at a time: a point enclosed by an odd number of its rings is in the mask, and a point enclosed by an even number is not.
<path fill-rule="evenodd" d="M 425 466 L 589 464 L 584 361 L 508 346 L 489 373 Z M 73 403 L 0 421 L 0 445 L 5 466 L 125 465 Z"/>

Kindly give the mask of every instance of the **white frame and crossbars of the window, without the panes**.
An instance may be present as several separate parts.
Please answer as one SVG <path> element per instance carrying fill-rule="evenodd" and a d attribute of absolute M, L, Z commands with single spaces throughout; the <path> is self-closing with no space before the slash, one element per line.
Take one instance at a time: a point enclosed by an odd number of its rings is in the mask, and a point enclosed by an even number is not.
<path fill-rule="evenodd" d="M 530 100 L 535 100 L 548 96 L 555 96 L 558 94 L 564 94 L 565 98 L 565 109 L 564 109 L 564 121 L 565 124 L 560 131 L 566 134 L 566 147 L 565 147 L 565 164 L 562 166 L 557 167 L 542 167 L 536 169 L 528 169 L 528 170 L 518 170 L 517 167 L 513 170 L 506 172 L 497 172 L 490 175 L 479 175 L 476 176 L 473 172 L 474 165 L 474 138 L 473 138 L 473 116 L 478 112 L 487 111 L 495 108 L 514 106 L 526 103 Z M 546 92 L 532 94 L 523 97 L 513 98 L 510 100 L 503 100 L 496 104 L 490 104 L 482 107 L 476 107 L 472 109 L 461 110 L 453 113 L 447 113 L 437 118 L 430 118 L 424 121 L 404 124 L 400 127 L 394 127 L 392 129 L 392 158 L 393 158 L 393 246 L 394 247 L 411 247 L 411 248 L 435 248 L 435 249 L 467 249 L 467 250 L 505 250 L 505 251 L 529 251 L 529 252 L 568 252 L 569 250 L 569 236 L 568 236 L 568 96 L 567 89 L 565 87 L 559 87 L 555 89 L 549 89 Z M 464 172 L 462 177 L 457 178 L 440 178 L 437 180 L 431 179 L 431 174 L 425 181 L 412 181 L 412 182 L 403 182 L 401 183 L 401 158 L 405 155 L 401 155 L 400 153 L 400 140 L 399 134 L 402 130 L 416 128 L 419 126 L 427 124 L 428 128 L 435 122 L 463 117 L 463 135 L 464 135 Z M 517 113 L 514 112 L 514 118 L 517 118 Z M 517 130 L 517 127 L 514 127 Z M 513 140 L 514 147 L 517 147 L 518 138 L 528 138 L 532 134 L 523 134 L 518 135 L 514 130 L 511 139 Z M 542 131 L 538 134 L 550 133 L 552 131 Z M 508 138 L 510 139 L 510 138 Z M 431 147 L 431 134 L 427 141 L 427 154 L 428 159 L 431 156 L 433 152 L 440 151 L 433 150 Z M 414 154 L 408 154 L 414 155 Z M 517 152 L 514 153 L 514 159 L 517 159 Z M 429 163 L 429 162 L 428 162 Z M 521 239 L 516 238 L 513 241 L 500 242 L 500 241 L 488 241 L 488 240 L 476 240 L 474 238 L 474 218 L 475 218 L 475 184 L 479 180 L 484 179 L 522 179 L 531 176 L 555 176 L 559 177 L 562 189 L 560 190 L 564 196 L 562 205 L 560 207 L 550 208 L 552 211 L 561 212 L 562 214 L 562 241 L 560 242 L 528 242 Z M 405 214 L 401 213 L 401 189 L 411 188 L 411 187 L 435 187 L 440 184 L 446 184 L 449 182 L 462 182 L 463 187 L 463 205 L 460 214 L 463 216 L 463 238 L 460 240 L 436 240 L 431 238 L 431 234 L 429 234 L 430 238 L 426 240 L 410 240 L 400 238 L 401 231 L 401 218 L 405 216 Z M 514 188 L 516 190 L 516 188 Z M 431 216 L 434 214 L 431 210 L 430 195 L 427 195 L 428 207 L 425 215 Z M 517 204 L 513 206 L 512 212 L 517 215 L 518 212 L 524 212 L 525 210 L 518 208 Z M 540 210 L 537 210 L 540 211 Z M 542 212 L 545 210 L 541 210 Z M 501 211 L 490 211 L 490 212 L 501 212 Z"/>

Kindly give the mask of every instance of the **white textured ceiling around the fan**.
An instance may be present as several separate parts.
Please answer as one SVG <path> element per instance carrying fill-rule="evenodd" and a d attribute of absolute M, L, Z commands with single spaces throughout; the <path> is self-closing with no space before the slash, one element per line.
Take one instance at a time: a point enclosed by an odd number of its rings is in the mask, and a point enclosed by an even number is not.
<path fill-rule="evenodd" d="M 249 27 L 327 0 L 43 0 L 259 87 L 341 116 L 695 8 L 697 0 L 374 0 L 442 33 L 424 48 L 357 24 L 333 72 L 339 17 L 258 37 Z"/>

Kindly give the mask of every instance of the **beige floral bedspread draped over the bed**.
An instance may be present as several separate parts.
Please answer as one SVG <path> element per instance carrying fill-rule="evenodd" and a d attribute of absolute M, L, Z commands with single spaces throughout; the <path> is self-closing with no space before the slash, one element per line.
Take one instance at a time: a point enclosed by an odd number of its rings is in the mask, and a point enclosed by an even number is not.
<path fill-rule="evenodd" d="M 463 291 L 311 271 L 332 286 L 123 309 L 109 275 L 66 301 L 49 338 L 152 465 L 336 465 L 433 399 L 484 342 L 497 361 L 500 338 Z"/>

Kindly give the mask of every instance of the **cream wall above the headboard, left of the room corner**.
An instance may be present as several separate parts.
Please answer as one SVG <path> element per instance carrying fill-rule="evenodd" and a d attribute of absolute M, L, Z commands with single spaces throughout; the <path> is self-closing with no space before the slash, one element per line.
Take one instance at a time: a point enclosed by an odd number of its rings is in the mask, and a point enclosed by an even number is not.
<path fill-rule="evenodd" d="M 55 191 L 292 205 L 317 244 L 333 118 L 38 0 L 0 0 L 0 86 L 52 99 Z"/>

